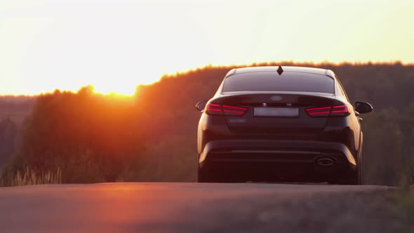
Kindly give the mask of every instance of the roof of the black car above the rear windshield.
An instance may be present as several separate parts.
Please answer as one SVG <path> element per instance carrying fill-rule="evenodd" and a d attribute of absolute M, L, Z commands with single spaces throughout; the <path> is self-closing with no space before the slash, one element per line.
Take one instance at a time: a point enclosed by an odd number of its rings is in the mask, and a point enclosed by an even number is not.
<path fill-rule="evenodd" d="M 332 79 L 335 79 L 335 74 L 330 69 L 321 69 L 314 67 L 293 67 L 293 66 L 281 66 L 283 72 L 301 72 L 309 74 L 319 74 L 323 76 L 328 76 Z M 253 72 L 276 72 L 279 67 L 277 66 L 265 66 L 265 67 L 242 67 L 235 68 L 230 70 L 226 77 L 232 76 L 234 74 L 243 74 L 243 73 L 253 73 Z"/>

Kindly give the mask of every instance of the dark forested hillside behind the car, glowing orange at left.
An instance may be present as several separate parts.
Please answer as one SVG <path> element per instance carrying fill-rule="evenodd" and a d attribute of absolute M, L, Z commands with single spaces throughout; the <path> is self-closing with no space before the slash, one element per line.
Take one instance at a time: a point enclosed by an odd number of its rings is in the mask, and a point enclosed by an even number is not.
<path fill-rule="evenodd" d="M 364 180 L 384 185 L 413 182 L 413 65 L 282 65 L 332 69 L 352 101 L 372 103 L 374 111 L 362 115 Z M 194 105 L 211 98 L 230 69 L 204 67 L 163 76 L 155 84 L 138 86 L 135 98 L 128 100 L 93 94 L 89 88 L 41 95 L 25 123 L 17 123 L 21 131 L 13 129 L 13 117 L 3 119 L 7 127 L 0 124 L 0 136 L 22 135 L 22 143 L 0 140 L 2 145 L 18 145 L 3 172 L 59 167 L 63 182 L 193 181 L 199 120 Z M 0 98 L 5 112 L 1 106 Z"/>

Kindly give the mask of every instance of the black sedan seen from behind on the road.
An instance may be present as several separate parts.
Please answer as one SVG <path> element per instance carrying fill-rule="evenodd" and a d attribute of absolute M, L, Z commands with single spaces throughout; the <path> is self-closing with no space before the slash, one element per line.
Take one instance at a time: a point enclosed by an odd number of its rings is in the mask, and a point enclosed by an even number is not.
<path fill-rule="evenodd" d="M 232 69 L 201 114 L 199 182 L 360 185 L 367 102 L 349 102 L 329 69 Z"/>

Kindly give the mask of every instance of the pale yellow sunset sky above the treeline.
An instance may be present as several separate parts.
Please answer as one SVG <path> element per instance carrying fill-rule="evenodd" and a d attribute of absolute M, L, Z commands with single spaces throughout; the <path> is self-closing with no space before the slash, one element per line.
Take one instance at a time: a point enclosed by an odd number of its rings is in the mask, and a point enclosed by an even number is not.
<path fill-rule="evenodd" d="M 0 95 L 132 94 L 208 64 L 413 63 L 413 25 L 413 0 L 0 0 Z"/>

